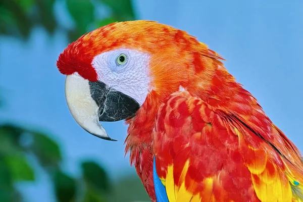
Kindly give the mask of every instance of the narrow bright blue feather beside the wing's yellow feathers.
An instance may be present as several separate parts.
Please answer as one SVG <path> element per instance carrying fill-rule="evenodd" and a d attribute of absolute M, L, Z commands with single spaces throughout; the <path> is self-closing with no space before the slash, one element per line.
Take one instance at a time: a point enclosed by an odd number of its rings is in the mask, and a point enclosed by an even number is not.
<path fill-rule="evenodd" d="M 156 170 L 156 159 L 154 157 L 154 169 L 153 169 L 153 177 L 154 177 L 154 187 L 156 192 L 157 202 L 169 202 L 165 186 L 162 184 Z"/>

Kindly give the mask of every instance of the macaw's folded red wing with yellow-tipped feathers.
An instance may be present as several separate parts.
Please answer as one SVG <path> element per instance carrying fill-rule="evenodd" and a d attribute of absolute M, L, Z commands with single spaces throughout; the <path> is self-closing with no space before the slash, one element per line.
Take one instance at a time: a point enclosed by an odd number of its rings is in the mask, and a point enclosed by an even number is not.
<path fill-rule="evenodd" d="M 302 201 L 301 155 L 268 127 L 272 134 L 263 135 L 188 92 L 172 94 L 159 109 L 153 140 L 169 201 Z"/>

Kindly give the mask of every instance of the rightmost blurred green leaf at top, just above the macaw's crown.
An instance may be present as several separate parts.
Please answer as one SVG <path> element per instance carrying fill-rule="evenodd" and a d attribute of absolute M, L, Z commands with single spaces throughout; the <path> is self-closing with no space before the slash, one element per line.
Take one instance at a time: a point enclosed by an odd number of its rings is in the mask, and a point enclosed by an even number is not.
<path fill-rule="evenodd" d="M 134 12 L 131 0 L 99 0 L 113 11 L 115 18 L 118 21 L 134 20 Z"/>

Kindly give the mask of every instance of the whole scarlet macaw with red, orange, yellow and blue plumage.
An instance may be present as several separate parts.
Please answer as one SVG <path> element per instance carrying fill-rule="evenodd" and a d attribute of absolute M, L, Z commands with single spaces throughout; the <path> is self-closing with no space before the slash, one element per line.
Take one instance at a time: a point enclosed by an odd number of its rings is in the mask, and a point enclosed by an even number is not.
<path fill-rule="evenodd" d="M 303 201 L 297 147 L 222 57 L 185 31 L 113 23 L 59 56 L 71 114 L 107 140 L 99 121 L 126 119 L 126 153 L 153 202 Z"/>

